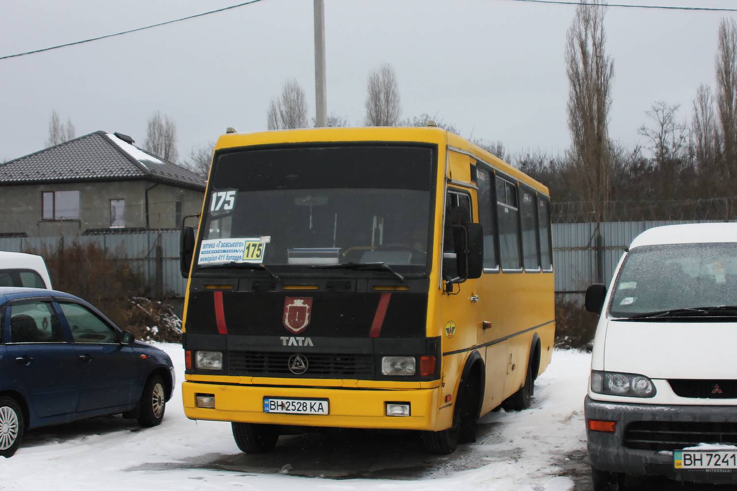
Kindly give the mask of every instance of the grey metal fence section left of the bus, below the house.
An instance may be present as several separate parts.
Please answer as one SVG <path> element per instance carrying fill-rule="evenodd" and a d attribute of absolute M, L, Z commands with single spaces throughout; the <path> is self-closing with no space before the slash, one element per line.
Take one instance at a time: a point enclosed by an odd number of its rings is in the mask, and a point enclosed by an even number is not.
<path fill-rule="evenodd" d="M 133 269 L 141 272 L 162 293 L 184 297 L 186 280 L 179 272 L 178 230 L 77 237 L 0 238 L 0 250 L 37 253 L 44 249 L 55 251 L 60 245 L 71 244 L 73 241 L 83 246 L 97 244 L 111 257 L 130 261 Z M 157 247 L 159 244 L 161 247 Z"/>

